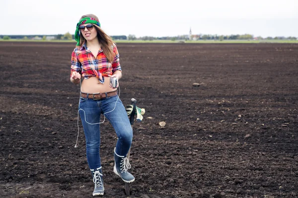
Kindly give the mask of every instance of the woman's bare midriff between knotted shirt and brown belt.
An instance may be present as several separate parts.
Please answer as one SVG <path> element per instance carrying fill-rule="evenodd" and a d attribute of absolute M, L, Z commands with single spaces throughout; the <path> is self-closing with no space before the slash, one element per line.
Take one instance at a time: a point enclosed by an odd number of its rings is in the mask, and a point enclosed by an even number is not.
<path fill-rule="evenodd" d="M 96 77 L 84 79 L 81 84 L 81 92 L 95 94 L 113 92 L 116 89 L 110 88 L 110 77 L 104 77 L 104 84 L 101 84 Z"/>

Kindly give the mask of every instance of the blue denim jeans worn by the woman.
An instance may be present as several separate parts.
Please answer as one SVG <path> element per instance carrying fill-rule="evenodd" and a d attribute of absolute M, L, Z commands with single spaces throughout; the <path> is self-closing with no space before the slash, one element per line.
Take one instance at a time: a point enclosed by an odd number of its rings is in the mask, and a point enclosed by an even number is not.
<path fill-rule="evenodd" d="M 118 136 L 116 153 L 125 156 L 131 147 L 133 130 L 121 99 L 117 99 L 118 96 L 99 100 L 85 98 L 80 98 L 79 100 L 79 115 L 84 128 L 87 161 L 90 169 L 96 169 L 101 166 L 99 155 L 100 124 L 92 124 L 100 122 L 100 114 L 111 111 L 104 114 L 104 116 L 110 121 Z M 91 124 L 88 124 L 86 121 Z"/>

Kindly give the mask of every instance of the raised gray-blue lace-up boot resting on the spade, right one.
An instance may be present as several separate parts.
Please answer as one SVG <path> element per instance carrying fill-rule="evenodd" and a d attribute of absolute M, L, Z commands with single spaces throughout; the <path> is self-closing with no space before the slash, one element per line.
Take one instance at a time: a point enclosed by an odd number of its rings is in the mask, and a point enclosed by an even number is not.
<path fill-rule="evenodd" d="M 116 175 L 119 175 L 124 182 L 131 183 L 135 181 L 135 177 L 127 172 L 127 170 L 131 168 L 127 156 L 118 155 L 116 153 L 116 148 L 114 148 L 114 159 L 114 173 L 116 173 Z"/>

